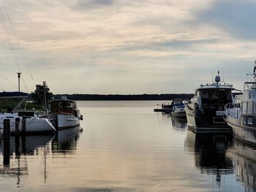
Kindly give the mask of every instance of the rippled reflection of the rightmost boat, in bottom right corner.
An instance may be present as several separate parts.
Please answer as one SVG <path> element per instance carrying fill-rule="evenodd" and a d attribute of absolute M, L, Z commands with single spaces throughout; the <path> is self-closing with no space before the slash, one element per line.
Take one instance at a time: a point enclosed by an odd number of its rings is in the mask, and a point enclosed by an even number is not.
<path fill-rule="evenodd" d="M 244 191 L 256 191 L 256 149 L 234 140 L 233 147 L 227 151 L 233 158 L 237 179 L 244 184 Z"/>

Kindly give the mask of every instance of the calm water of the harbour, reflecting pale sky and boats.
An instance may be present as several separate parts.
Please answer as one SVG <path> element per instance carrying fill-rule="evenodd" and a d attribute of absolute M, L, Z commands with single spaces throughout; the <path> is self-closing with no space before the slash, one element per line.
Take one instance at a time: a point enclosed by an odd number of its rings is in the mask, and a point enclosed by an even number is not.
<path fill-rule="evenodd" d="M 255 191 L 255 150 L 187 131 L 161 102 L 79 101 L 83 132 L 11 137 L 0 191 Z"/>

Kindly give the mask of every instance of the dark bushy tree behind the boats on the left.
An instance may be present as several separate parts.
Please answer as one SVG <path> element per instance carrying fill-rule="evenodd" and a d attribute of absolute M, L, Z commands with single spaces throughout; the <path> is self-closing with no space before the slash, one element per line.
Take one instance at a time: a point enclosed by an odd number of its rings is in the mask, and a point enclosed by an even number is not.
<path fill-rule="evenodd" d="M 36 85 L 36 89 L 35 89 L 34 93 L 31 92 L 31 96 L 34 99 L 36 104 L 42 105 L 43 90 L 44 90 L 43 85 Z M 50 101 L 53 97 L 53 93 L 50 92 L 50 88 L 48 88 L 48 87 L 45 88 L 45 91 L 46 91 L 46 101 Z"/>

